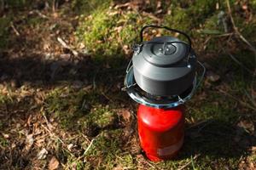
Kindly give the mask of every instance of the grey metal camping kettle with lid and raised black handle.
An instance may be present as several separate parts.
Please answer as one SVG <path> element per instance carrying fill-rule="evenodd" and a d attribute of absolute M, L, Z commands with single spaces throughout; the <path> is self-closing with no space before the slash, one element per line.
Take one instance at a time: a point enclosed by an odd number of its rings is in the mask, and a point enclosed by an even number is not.
<path fill-rule="evenodd" d="M 170 36 L 154 37 L 143 42 L 143 31 L 148 27 L 181 33 L 188 38 L 189 43 Z M 189 36 L 165 26 L 145 26 L 141 37 L 141 45 L 132 57 L 137 85 L 148 94 L 156 96 L 182 94 L 195 78 L 196 56 L 191 49 Z"/>

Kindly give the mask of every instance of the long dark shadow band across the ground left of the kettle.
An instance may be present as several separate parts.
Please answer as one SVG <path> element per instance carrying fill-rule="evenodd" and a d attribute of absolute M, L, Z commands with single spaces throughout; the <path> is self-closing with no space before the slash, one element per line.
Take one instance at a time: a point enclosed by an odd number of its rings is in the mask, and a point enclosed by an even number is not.
<path fill-rule="evenodd" d="M 108 80 L 108 84 L 111 84 L 115 83 L 117 78 L 125 76 L 127 59 L 108 56 L 102 58 L 105 59 L 93 60 L 90 56 L 80 56 L 79 59 L 44 59 L 33 54 L 10 59 L 9 56 L 2 54 L 0 80 L 15 81 L 15 88 L 20 88 L 23 82 L 47 86 L 75 80 L 87 84 Z"/>

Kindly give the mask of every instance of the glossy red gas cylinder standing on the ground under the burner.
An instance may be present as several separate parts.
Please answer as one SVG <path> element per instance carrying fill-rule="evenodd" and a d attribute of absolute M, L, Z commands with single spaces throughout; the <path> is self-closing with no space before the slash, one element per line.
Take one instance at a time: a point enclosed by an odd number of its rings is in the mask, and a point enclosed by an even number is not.
<path fill-rule="evenodd" d="M 139 105 L 138 134 L 141 146 L 151 161 L 162 161 L 177 155 L 184 139 L 183 107 L 157 109 Z"/>

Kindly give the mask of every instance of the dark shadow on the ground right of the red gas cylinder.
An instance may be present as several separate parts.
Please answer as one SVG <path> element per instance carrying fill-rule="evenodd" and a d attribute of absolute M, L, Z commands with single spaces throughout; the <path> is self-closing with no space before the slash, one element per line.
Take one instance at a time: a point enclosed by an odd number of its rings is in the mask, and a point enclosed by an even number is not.
<path fill-rule="evenodd" d="M 256 144 L 253 133 L 229 122 L 209 120 L 200 127 L 186 130 L 181 159 L 200 154 L 213 158 L 236 158 L 247 156 Z"/>

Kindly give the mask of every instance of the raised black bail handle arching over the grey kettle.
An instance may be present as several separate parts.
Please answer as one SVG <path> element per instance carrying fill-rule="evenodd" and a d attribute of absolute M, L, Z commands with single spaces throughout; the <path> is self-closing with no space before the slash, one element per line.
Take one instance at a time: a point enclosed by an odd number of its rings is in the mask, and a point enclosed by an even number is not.
<path fill-rule="evenodd" d="M 179 31 L 179 30 L 176 30 L 176 29 L 173 29 L 173 28 L 169 28 L 167 26 L 155 26 L 155 25 L 148 25 L 148 26 L 143 26 L 142 30 L 140 31 L 140 44 L 143 44 L 143 31 L 147 28 L 159 28 L 159 29 L 166 29 L 168 31 L 172 31 L 172 32 L 177 32 L 177 33 L 180 33 L 182 34 L 184 37 L 186 37 L 189 41 L 189 53 L 190 53 L 190 50 L 191 50 L 191 39 L 189 37 L 188 34 L 186 34 L 185 32 L 183 31 Z"/>

